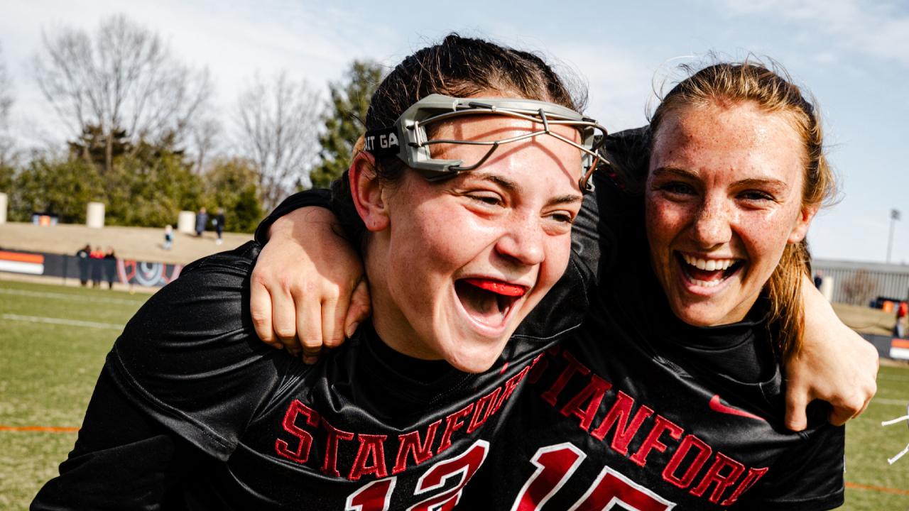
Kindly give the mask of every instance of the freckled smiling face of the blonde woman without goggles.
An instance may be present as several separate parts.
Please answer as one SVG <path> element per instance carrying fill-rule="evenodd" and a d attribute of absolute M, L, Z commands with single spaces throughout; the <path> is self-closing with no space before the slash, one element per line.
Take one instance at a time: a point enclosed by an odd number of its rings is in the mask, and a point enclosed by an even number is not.
<path fill-rule="evenodd" d="M 804 146 L 788 114 L 688 105 L 654 133 L 645 202 L 651 263 L 675 316 L 740 321 L 786 244 L 804 238 Z"/>

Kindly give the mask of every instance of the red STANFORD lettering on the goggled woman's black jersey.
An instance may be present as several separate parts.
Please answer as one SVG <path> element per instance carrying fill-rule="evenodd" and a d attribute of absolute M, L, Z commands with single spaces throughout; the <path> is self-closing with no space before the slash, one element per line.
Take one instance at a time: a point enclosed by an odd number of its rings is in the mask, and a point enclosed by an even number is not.
<path fill-rule="evenodd" d="M 514 394 L 518 384 L 542 358 L 505 380 L 492 392 L 468 403 L 461 409 L 432 423 L 399 435 L 382 432 L 350 432 L 332 425 L 319 412 L 299 399 L 287 406 L 282 421 L 283 434 L 275 439 L 275 453 L 296 463 L 306 464 L 314 448 L 324 456 L 318 469 L 326 476 L 358 481 L 361 477 L 376 479 L 400 474 L 408 466 L 418 466 L 445 452 L 454 436 L 473 435 L 494 416 L 505 400 Z M 436 438 L 438 441 L 436 442 Z M 339 456 L 345 450 L 354 456 Z M 389 456 L 391 455 L 391 456 Z M 391 470 L 389 471 L 389 467 Z"/>

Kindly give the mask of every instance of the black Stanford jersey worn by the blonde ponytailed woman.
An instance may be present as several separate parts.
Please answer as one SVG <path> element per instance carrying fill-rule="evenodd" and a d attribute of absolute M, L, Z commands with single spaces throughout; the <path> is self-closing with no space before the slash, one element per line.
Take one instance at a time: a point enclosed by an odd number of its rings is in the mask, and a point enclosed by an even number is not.
<path fill-rule="evenodd" d="M 464 508 L 842 505 L 844 427 L 818 403 L 807 430 L 785 428 L 766 304 L 734 325 L 684 324 L 650 271 L 640 201 L 611 200 L 600 208 L 618 250 L 584 325 L 534 366 Z"/>

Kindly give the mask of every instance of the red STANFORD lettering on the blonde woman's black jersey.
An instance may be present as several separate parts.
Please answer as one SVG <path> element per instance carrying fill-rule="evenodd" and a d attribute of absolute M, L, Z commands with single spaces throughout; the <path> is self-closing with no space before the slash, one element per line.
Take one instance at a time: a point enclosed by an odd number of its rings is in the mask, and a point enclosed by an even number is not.
<path fill-rule="evenodd" d="M 730 506 L 769 470 L 744 466 L 698 436 L 686 434 L 682 426 L 654 409 L 635 403 L 633 396 L 621 390 L 610 392 L 611 382 L 593 374 L 567 350 L 550 349 L 547 358 L 534 367 L 530 381 L 539 380 L 547 371 L 554 379 L 540 394 L 545 403 L 563 416 L 576 417 L 588 435 L 635 465 L 661 464 L 663 480 L 693 496 Z M 572 390 L 564 392 L 566 387 Z M 663 455 L 654 456 L 656 453 Z"/>

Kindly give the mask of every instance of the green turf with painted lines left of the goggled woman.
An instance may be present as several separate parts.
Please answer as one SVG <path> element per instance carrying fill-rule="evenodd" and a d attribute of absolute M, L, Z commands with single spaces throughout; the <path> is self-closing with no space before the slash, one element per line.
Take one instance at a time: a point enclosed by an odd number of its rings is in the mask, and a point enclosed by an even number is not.
<path fill-rule="evenodd" d="M 0 281 L 0 426 L 79 426 L 120 333 L 116 326 L 147 298 Z M 106 326 L 34 323 L 25 316 Z M 0 509 L 27 508 L 74 442 L 75 433 L 0 431 Z"/>

